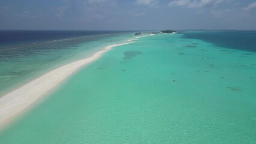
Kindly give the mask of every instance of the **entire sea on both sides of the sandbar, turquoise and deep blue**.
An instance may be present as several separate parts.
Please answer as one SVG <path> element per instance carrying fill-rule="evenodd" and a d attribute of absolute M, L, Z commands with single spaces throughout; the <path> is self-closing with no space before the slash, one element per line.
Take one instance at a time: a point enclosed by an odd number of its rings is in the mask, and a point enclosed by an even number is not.
<path fill-rule="evenodd" d="M 134 37 L 0 31 L 0 93 Z M 256 143 L 256 31 L 178 31 L 114 47 L 1 130 L 0 143 Z"/>

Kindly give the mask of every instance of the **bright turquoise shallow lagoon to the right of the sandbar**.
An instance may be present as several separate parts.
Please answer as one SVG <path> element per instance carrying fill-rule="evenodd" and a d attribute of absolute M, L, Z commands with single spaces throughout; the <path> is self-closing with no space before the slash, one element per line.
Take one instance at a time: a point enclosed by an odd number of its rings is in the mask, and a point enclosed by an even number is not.
<path fill-rule="evenodd" d="M 255 62 L 180 34 L 140 38 L 72 76 L 0 143 L 255 143 Z"/>

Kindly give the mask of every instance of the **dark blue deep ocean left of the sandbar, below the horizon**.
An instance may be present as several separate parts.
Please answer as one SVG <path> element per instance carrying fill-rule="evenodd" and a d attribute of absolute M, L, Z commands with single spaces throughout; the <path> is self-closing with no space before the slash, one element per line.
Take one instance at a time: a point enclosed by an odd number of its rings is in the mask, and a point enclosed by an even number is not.
<path fill-rule="evenodd" d="M 0 31 L 0 59 L 65 49 L 125 31 Z"/>

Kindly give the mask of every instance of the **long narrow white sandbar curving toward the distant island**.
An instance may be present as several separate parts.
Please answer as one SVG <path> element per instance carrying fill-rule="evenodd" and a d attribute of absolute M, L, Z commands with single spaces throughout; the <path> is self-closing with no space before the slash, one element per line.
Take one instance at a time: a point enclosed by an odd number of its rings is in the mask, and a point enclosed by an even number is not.
<path fill-rule="evenodd" d="M 147 36 L 150 35 L 143 35 L 141 37 Z M 37 79 L 20 86 L 20 88 L 5 94 L 0 98 L 0 128 L 10 123 L 12 119 L 19 116 L 25 110 L 29 109 L 29 107 L 40 100 L 40 98 L 44 97 L 47 92 L 56 88 L 56 86 L 75 73 L 75 71 L 100 58 L 104 53 L 111 50 L 112 47 L 133 43 L 134 40 L 141 37 L 132 38 L 128 40 L 129 42 L 127 43 L 109 45 L 103 50 L 94 53 L 94 55 L 89 58 L 56 68 L 55 70 L 49 71 Z"/>

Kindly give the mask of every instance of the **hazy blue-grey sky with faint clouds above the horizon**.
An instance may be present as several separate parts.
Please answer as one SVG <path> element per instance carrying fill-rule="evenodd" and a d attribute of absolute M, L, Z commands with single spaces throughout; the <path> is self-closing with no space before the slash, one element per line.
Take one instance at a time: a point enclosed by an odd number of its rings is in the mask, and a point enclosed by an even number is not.
<path fill-rule="evenodd" d="M 256 30 L 256 0 L 1 0 L 0 29 Z"/>

